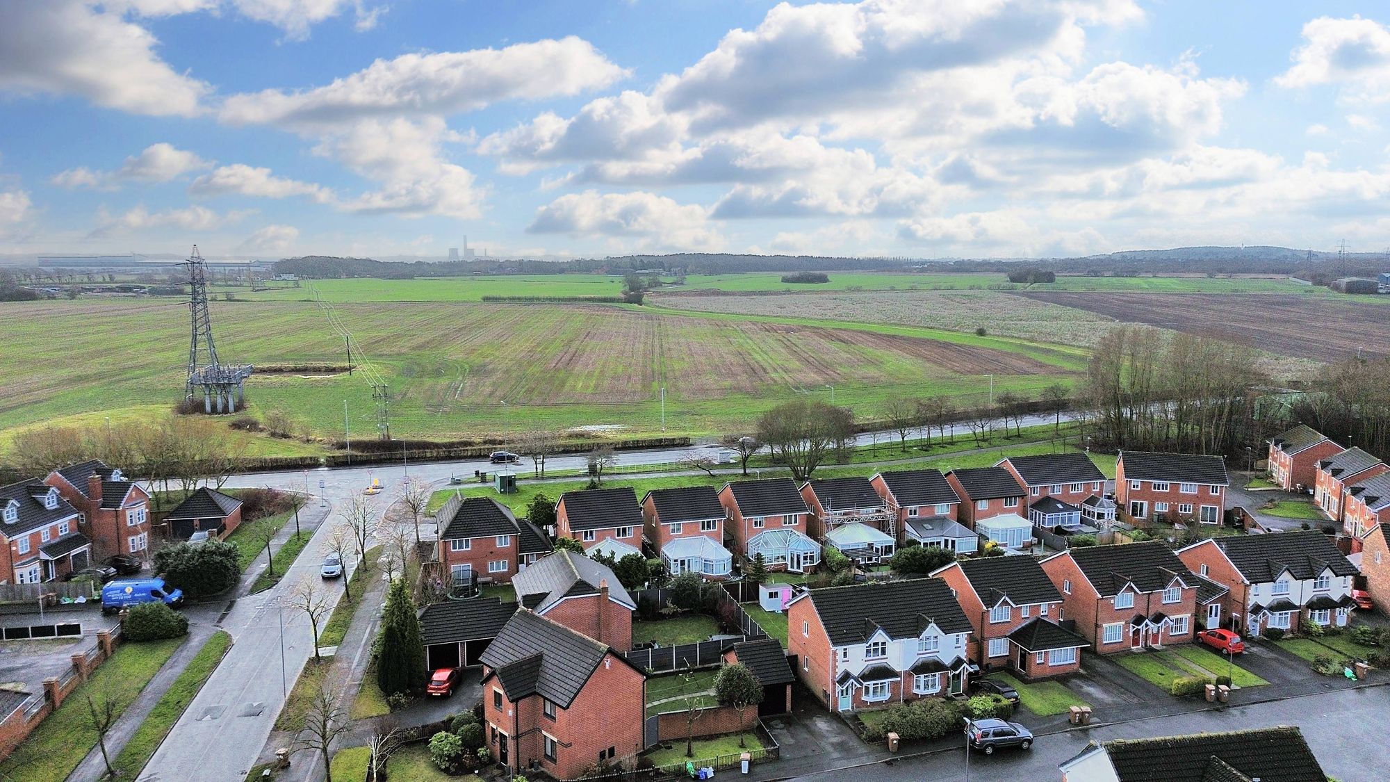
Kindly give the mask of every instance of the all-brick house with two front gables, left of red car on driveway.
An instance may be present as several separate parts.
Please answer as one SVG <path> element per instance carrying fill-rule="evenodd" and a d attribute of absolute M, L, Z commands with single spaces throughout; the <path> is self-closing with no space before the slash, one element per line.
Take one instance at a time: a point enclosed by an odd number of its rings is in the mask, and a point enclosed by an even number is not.
<path fill-rule="evenodd" d="M 1200 582 L 1165 543 L 1069 548 L 1041 565 L 1097 654 L 1191 643 Z"/>

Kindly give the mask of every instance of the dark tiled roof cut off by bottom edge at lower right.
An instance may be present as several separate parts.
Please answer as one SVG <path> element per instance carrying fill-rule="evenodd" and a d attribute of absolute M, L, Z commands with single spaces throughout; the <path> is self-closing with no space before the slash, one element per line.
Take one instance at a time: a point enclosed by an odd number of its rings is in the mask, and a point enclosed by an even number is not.
<path fill-rule="evenodd" d="M 1229 733 L 1115 739 L 1099 746 L 1109 756 L 1119 782 L 1322 782 L 1327 778 L 1298 728 L 1283 725 Z M 1232 776 L 1227 769 L 1240 776 Z"/>

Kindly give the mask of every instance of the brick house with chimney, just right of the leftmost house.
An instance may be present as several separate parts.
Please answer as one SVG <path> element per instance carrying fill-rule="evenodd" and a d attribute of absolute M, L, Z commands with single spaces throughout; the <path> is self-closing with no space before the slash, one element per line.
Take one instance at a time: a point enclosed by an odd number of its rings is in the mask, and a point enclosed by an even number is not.
<path fill-rule="evenodd" d="M 104 562 L 115 554 L 147 559 L 150 548 L 150 494 L 121 470 L 100 459 L 49 473 L 44 480 L 81 513 L 78 527 L 92 540 L 92 559 Z"/>

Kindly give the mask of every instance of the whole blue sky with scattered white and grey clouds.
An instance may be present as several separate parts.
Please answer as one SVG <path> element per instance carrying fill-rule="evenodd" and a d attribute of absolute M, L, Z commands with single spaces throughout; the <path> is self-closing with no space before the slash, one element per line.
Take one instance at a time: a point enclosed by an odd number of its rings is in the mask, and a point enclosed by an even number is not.
<path fill-rule="evenodd" d="M 0 0 L 0 255 L 1390 246 L 1390 6 Z"/>

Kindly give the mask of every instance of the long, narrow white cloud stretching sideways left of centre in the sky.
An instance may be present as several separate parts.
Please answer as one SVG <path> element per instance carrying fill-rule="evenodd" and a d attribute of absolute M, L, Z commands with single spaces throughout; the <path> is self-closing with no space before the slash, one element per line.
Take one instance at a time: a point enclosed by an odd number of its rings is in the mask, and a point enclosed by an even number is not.
<path fill-rule="evenodd" d="M 589 42 L 574 36 L 506 49 L 402 54 L 321 88 L 234 95 L 222 104 L 221 120 L 329 128 L 354 118 L 448 115 L 498 100 L 575 95 L 623 75 Z"/>

